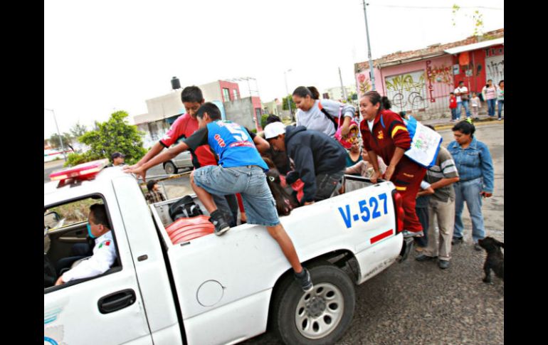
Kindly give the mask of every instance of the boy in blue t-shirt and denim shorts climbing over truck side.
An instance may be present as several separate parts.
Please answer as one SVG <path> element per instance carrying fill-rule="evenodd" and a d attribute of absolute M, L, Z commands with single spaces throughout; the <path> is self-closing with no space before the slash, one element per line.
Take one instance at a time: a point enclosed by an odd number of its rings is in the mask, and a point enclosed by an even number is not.
<path fill-rule="evenodd" d="M 275 201 L 265 179 L 268 166 L 260 157 L 249 133 L 235 122 L 221 120 L 221 112 L 211 102 L 201 105 L 196 118 L 199 129 L 191 137 L 128 172 L 140 175 L 144 180 L 147 169 L 152 166 L 173 159 L 188 149 L 196 150 L 201 145 L 209 144 L 219 157 L 219 165 L 196 169 L 190 181 L 196 196 L 211 216 L 215 234 L 222 235 L 230 226 L 218 211 L 211 194 L 241 193 L 248 223 L 265 225 L 293 267 L 295 279 L 300 282 L 302 290 L 312 290 L 310 273 L 300 264 L 293 242 L 278 218 Z"/>

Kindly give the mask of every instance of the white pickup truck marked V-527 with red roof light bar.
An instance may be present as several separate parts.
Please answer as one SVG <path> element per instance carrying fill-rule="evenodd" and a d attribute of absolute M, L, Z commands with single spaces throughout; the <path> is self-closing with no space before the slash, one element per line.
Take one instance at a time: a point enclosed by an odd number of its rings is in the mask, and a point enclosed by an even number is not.
<path fill-rule="evenodd" d="M 177 199 L 147 205 L 118 167 L 76 166 L 56 179 L 44 184 L 44 344 L 236 344 L 267 327 L 285 344 L 333 344 L 352 320 L 354 285 L 411 248 L 394 185 L 346 176 L 346 193 L 280 218 L 312 275 L 305 293 L 264 226 L 173 244 Z M 46 283 L 46 260 L 55 272 L 88 241 L 93 203 L 107 208 L 117 260 L 96 277 Z"/>

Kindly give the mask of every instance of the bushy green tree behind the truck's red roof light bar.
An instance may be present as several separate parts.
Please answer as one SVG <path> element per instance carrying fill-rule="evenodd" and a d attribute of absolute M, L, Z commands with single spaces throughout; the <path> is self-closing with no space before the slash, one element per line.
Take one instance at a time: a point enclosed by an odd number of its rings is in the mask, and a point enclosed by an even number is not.
<path fill-rule="evenodd" d="M 135 164 L 147 153 L 147 150 L 143 147 L 142 132 L 137 130 L 137 126 L 127 124 L 125 119 L 128 116 L 127 112 L 122 110 L 113 112 L 107 122 L 95 122 L 95 130 L 85 132 L 78 138 L 78 141 L 88 145 L 90 150 L 78 156 L 71 155 L 65 165 L 69 162 L 80 164 L 85 161 L 110 158 L 114 152 L 123 152 L 126 163 Z"/>

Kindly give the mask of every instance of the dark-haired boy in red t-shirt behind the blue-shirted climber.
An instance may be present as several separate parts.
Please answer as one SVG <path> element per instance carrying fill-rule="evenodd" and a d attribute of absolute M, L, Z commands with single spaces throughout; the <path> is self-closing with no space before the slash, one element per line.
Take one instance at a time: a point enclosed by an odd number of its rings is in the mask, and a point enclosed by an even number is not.
<path fill-rule="evenodd" d="M 198 120 L 196 120 L 196 112 L 199 107 L 204 104 L 204 95 L 197 86 L 187 86 L 181 92 L 181 100 L 186 110 L 186 114 L 177 117 L 177 120 L 173 122 L 169 131 L 159 140 L 147 154 L 142 157 L 137 164 L 132 166 L 126 166 L 124 170 L 135 169 L 143 164 L 147 163 L 150 159 L 153 159 L 165 148 L 169 149 L 172 144 L 175 144 L 179 139 L 189 138 L 196 130 L 198 130 Z M 203 145 L 196 148 L 196 150 L 189 150 L 192 156 L 192 164 L 195 169 L 201 166 L 217 165 L 218 157 L 211 150 L 209 145 Z M 236 196 L 216 196 L 214 195 L 214 201 L 218 209 L 225 215 L 225 218 L 232 219 L 231 226 L 236 226 L 236 219 L 234 215 L 238 214 L 238 201 Z M 229 203 L 230 201 L 230 203 Z"/>

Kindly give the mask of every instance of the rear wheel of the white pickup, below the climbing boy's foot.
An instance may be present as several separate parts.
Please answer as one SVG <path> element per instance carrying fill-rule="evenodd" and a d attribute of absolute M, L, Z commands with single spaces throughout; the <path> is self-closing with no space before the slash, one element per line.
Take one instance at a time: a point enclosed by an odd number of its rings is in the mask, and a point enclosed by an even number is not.
<path fill-rule="evenodd" d="M 275 292 L 273 329 L 285 344 L 334 344 L 354 315 L 354 283 L 329 262 L 309 270 L 311 292 L 302 292 L 293 275 Z"/>

